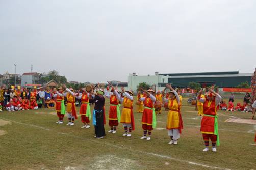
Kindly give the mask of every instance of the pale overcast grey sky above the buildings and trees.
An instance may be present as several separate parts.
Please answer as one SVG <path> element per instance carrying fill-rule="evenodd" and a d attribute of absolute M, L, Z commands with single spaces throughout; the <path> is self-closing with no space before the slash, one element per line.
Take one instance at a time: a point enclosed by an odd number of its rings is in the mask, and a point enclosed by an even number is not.
<path fill-rule="evenodd" d="M 254 0 L 0 0 L 0 74 L 68 81 L 256 67 Z"/>

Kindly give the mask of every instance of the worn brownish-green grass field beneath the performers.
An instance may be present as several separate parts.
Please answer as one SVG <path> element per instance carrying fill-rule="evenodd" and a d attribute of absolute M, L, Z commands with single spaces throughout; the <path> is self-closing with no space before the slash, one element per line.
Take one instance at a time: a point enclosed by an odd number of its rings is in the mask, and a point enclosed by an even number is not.
<path fill-rule="evenodd" d="M 130 138 L 122 136 L 120 124 L 116 134 L 104 139 L 94 138 L 93 126 L 81 129 L 80 117 L 73 127 L 56 124 L 54 112 L 0 113 L 0 169 L 256 169 L 256 146 L 250 145 L 255 126 L 224 122 L 231 117 L 250 119 L 251 113 L 219 111 L 220 147 L 217 153 L 204 153 L 194 107 L 182 107 L 184 130 L 177 146 L 168 144 L 166 111 L 157 116 L 150 141 L 140 139 L 141 114 L 136 112 Z"/>

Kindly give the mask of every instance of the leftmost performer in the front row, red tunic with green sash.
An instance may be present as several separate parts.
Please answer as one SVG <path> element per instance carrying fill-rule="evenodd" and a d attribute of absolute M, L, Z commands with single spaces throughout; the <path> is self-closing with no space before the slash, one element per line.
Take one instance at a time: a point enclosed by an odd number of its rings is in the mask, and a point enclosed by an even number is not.
<path fill-rule="evenodd" d="M 55 89 L 56 91 L 56 89 Z M 53 95 L 54 98 L 56 98 L 56 113 L 59 118 L 59 121 L 57 121 L 57 124 L 63 124 L 63 118 L 65 117 L 65 104 L 64 104 L 64 94 L 62 87 L 59 87 L 56 91 L 56 93 Z"/>

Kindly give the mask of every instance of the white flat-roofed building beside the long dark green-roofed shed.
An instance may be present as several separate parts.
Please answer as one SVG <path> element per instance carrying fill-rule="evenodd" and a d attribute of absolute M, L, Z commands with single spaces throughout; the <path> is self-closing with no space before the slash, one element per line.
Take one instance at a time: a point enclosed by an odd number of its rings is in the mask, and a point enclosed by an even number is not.
<path fill-rule="evenodd" d="M 155 75 L 143 76 L 138 76 L 136 73 L 133 73 L 128 76 L 128 89 L 136 92 L 138 85 L 141 82 L 149 84 L 155 91 L 162 91 L 165 88 L 165 84 L 168 83 L 168 76 L 159 75 L 158 72 L 156 72 Z"/>

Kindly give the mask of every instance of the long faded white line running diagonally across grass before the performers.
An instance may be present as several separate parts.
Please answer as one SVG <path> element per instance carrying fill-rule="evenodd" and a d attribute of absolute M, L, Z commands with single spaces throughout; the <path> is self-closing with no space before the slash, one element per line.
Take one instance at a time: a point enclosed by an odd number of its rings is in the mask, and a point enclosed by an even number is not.
<path fill-rule="evenodd" d="M 22 122 L 16 122 L 16 121 L 13 121 L 13 120 L 10 120 L 10 119 L 6 119 L 6 120 L 11 121 L 11 122 L 14 122 L 14 123 L 22 124 L 22 125 L 27 125 L 27 126 L 32 126 L 32 127 L 35 127 L 35 128 L 40 128 L 40 129 L 46 130 L 46 131 L 53 131 L 53 130 L 50 130 L 50 129 L 47 129 L 47 128 L 44 128 L 44 127 L 41 127 L 41 126 L 36 126 L 36 125 L 33 125 L 33 124 L 27 124 L 27 123 L 22 123 Z M 101 143 L 100 141 L 97 141 L 96 139 L 83 138 L 83 137 L 79 137 L 79 136 L 70 135 L 70 134 L 68 134 L 68 133 L 61 133 L 61 132 L 57 132 L 57 133 L 58 133 L 58 134 L 62 134 L 62 135 L 66 135 L 66 136 L 70 136 L 70 137 L 74 137 L 74 138 L 79 138 L 79 139 L 82 139 L 82 140 L 88 140 L 88 141 L 91 141 L 92 143 L 103 144 L 103 143 Z M 104 141 L 104 144 L 105 144 L 105 145 L 108 145 L 108 146 L 115 147 L 115 148 L 119 148 L 119 149 L 124 149 L 124 150 L 129 149 L 129 148 L 123 148 L 123 146 L 118 146 L 118 145 L 113 145 L 113 144 L 110 144 L 110 143 L 106 143 L 106 141 Z M 230 170 L 230 169 L 228 169 L 228 168 L 221 168 L 221 167 L 216 167 L 216 166 L 209 166 L 209 165 L 205 165 L 205 164 L 202 164 L 202 163 L 191 162 L 191 161 L 184 160 L 184 159 L 176 159 L 176 158 L 172 158 L 172 157 L 170 157 L 170 156 L 155 154 L 155 153 L 151 153 L 151 152 L 145 152 L 145 151 L 134 150 L 134 149 L 129 149 L 129 150 L 130 150 L 131 152 L 143 153 L 143 154 L 146 154 L 146 155 L 152 155 L 152 156 L 156 156 L 156 157 L 160 157 L 160 158 L 170 159 L 170 160 L 174 160 L 174 161 L 178 161 L 178 162 L 182 162 L 182 163 L 188 163 L 188 164 L 192 164 L 192 165 L 196 165 L 196 166 L 201 166 L 201 167 L 209 167 L 209 168 L 212 168 L 212 169 Z"/>

